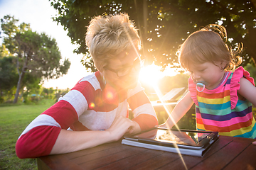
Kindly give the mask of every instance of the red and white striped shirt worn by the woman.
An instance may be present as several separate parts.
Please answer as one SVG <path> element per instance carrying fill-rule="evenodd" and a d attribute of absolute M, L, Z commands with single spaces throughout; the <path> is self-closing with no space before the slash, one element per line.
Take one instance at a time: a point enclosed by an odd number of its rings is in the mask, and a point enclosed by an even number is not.
<path fill-rule="evenodd" d="M 16 154 L 19 158 L 50 154 L 61 129 L 106 130 L 117 115 L 128 117 L 128 104 L 141 130 L 158 125 L 154 108 L 140 84 L 117 93 L 102 83 L 100 72 L 95 72 L 81 79 L 28 125 L 16 142 Z"/>

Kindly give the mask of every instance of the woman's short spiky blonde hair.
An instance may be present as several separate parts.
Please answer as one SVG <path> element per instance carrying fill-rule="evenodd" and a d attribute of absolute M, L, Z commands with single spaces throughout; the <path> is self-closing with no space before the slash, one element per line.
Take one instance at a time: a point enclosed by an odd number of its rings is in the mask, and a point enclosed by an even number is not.
<path fill-rule="evenodd" d="M 95 67 L 100 72 L 120 52 L 134 46 L 140 47 L 138 31 L 126 13 L 92 18 L 85 42 Z"/>

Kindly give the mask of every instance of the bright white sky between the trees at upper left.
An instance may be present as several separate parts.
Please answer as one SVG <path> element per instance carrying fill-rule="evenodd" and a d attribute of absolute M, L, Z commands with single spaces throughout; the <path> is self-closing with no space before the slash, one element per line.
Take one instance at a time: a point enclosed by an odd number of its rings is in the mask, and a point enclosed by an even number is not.
<path fill-rule="evenodd" d="M 71 62 L 68 74 L 59 79 L 45 81 L 43 86 L 53 89 L 71 89 L 75 84 L 90 74 L 80 63 L 82 55 L 73 53 L 75 45 L 72 45 L 68 37 L 68 31 L 60 24 L 53 22 L 52 17 L 58 13 L 48 0 L 0 0 L 0 18 L 6 15 L 14 16 L 19 23 L 30 23 L 31 29 L 37 33 L 46 33 L 51 38 L 55 38 L 58 43 L 62 58 L 68 58 Z"/>

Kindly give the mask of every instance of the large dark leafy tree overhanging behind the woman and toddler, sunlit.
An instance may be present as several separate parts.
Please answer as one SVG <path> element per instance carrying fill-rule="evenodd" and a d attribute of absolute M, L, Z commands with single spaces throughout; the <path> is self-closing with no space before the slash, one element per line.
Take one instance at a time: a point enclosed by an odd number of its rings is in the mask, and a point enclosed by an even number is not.
<path fill-rule="evenodd" d="M 175 55 L 189 34 L 211 23 L 220 23 L 228 31 L 228 45 L 238 49 L 240 42 L 244 64 L 256 60 L 255 0 L 49 0 L 58 10 L 54 21 L 61 23 L 78 48 L 85 54 L 83 64 L 95 70 L 85 47 L 86 26 L 93 16 L 126 12 L 135 21 L 142 38 L 142 55 L 147 64 L 166 67 L 178 62 Z"/>

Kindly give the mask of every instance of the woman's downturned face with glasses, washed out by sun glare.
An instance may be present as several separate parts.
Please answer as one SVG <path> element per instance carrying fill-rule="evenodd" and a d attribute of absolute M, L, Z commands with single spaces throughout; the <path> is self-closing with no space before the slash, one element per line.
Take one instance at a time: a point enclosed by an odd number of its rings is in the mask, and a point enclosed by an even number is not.
<path fill-rule="evenodd" d="M 110 60 L 102 74 L 107 84 L 117 90 L 133 89 L 139 79 L 140 63 L 139 50 L 132 48 Z"/>

